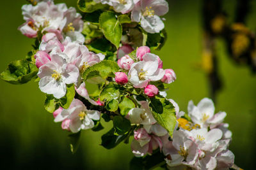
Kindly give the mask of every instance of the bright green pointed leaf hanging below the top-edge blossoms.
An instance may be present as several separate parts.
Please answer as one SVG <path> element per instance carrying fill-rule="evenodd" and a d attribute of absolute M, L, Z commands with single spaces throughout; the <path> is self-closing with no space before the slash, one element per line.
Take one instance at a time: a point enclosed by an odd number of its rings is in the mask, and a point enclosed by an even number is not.
<path fill-rule="evenodd" d="M 106 39 L 113 43 L 116 49 L 118 49 L 122 37 L 122 26 L 115 17 L 115 13 L 111 11 L 102 13 L 100 15 L 99 24 Z"/>

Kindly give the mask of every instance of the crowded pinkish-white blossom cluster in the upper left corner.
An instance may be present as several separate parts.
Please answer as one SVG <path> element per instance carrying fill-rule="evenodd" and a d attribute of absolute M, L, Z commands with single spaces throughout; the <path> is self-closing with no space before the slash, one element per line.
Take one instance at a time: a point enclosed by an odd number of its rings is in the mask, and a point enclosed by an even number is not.
<path fill-rule="evenodd" d="M 46 34 L 47 38 L 69 36 L 72 41 L 84 42 L 83 20 L 76 13 L 76 8 L 67 8 L 66 4 L 54 4 L 52 0 L 41 1 L 36 6 L 25 4 L 22 6 L 22 15 L 26 22 L 20 25 L 19 30 L 28 38 L 36 38 Z"/>

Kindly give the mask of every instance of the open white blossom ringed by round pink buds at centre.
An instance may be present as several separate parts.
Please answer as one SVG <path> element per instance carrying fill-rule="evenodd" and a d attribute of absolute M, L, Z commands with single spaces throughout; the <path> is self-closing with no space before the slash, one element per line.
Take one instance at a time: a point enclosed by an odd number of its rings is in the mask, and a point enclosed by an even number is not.
<path fill-rule="evenodd" d="M 123 50 L 123 48 L 119 48 Z M 154 53 L 150 53 L 148 46 L 140 46 L 136 50 L 136 59 L 132 60 L 124 51 L 123 57 L 118 59 L 118 66 L 128 72 L 116 74 L 115 81 L 119 84 L 128 81 L 135 88 L 145 88 L 144 92 L 148 97 L 154 97 L 159 90 L 155 85 L 150 85 L 152 81 L 162 81 L 163 83 L 172 83 L 176 80 L 176 74 L 172 69 L 163 69 L 163 61 Z M 120 56 L 120 55 L 119 55 Z"/>

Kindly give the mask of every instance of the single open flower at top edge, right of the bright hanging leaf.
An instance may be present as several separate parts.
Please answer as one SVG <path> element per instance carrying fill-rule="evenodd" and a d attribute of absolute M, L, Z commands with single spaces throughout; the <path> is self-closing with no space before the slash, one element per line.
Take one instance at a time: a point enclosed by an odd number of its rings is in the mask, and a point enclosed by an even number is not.
<path fill-rule="evenodd" d="M 168 12 L 168 3 L 164 0 L 141 0 L 132 9 L 131 19 L 140 22 L 149 33 L 160 32 L 164 23 L 159 16 Z"/>

